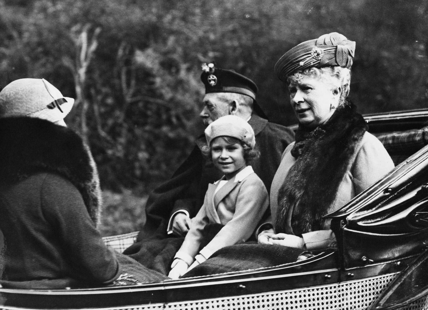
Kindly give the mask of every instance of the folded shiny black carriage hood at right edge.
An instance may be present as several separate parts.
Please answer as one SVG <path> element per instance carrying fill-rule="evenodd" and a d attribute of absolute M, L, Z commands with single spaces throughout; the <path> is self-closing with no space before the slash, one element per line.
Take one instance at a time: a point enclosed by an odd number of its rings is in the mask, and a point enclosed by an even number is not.
<path fill-rule="evenodd" d="M 343 268 L 421 253 L 428 240 L 428 146 L 330 213 Z"/>

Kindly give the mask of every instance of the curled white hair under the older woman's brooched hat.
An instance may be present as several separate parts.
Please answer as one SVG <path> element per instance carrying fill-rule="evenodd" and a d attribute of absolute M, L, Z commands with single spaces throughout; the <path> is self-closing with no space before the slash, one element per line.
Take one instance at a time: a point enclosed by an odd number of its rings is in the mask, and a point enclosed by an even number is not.
<path fill-rule="evenodd" d="M 287 83 L 291 81 L 301 80 L 305 76 L 318 77 L 320 79 L 327 79 L 332 84 L 333 88 L 341 88 L 342 92 L 339 98 L 339 107 L 345 104 L 345 99 L 349 95 L 351 83 L 351 70 L 342 68 L 340 66 L 330 66 L 322 68 L 309 68 L 302 71 L 297 71 L 287 77 Z"/>

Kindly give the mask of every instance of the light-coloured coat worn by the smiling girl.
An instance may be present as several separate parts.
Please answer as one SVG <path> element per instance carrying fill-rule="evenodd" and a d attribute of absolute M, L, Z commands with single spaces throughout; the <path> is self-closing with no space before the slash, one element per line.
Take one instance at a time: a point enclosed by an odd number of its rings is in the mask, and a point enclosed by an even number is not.
<path fill-rule="evenodd" d="M 222 247 L 250 238 L 269 206 L 269 197 L 265 185 L 253 169 L 250 166 L 245 169 L 244 175 L 238 174 L 230 179 L 215 194 L 220 181 L 208 185 L 204 204 L 193 218 L 192 227 L 175 257 L 188 262 L 186 257 L 193 259 L 196 256 L 203 238 L 202 231 L 207 224 L 217 223 L 224 227 L 200 250 L 205 258 Z"/>

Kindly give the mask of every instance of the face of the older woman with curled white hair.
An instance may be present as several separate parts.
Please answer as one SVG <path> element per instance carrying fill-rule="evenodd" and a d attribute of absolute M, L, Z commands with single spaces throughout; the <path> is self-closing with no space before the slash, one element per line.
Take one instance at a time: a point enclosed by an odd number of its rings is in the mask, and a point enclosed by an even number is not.
<path fill-rule="evenodd" d="M 321 77 L 303 76 L 288 85 L 290 103 L 299 123 L 307 128 L 323 124 L 339 105 L 340 88 Z"/>

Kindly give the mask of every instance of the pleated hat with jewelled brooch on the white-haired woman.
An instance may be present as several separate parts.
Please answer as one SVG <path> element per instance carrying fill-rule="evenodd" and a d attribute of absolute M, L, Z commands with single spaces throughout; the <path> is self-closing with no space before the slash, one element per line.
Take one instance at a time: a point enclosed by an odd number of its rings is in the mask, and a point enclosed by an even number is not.
<path fill-rule="evenodd" d="M 354 41 L 332 32 L 291 48 L 279 58 L 275 72 L 280 80 L 286 81 L 289 75 L 312 67 L 341 66 L 350 69 L 354 53 Z"/>

